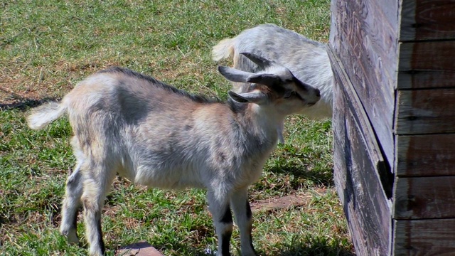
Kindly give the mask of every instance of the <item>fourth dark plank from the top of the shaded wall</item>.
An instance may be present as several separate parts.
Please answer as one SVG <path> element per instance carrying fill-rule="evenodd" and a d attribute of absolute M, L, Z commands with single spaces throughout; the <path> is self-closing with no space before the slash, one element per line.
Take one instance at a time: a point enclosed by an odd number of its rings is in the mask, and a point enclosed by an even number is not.
<path fill-rule="evenodd" d="M 395 137 L 397 176 L 455 175 L 455 134 Z"/>

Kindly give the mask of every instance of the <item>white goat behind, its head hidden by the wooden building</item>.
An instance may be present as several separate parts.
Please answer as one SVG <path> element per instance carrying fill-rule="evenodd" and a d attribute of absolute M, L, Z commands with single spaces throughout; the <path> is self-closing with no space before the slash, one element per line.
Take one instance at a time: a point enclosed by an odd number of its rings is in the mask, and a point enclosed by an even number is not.
<path fill-rule="evenodd" d="M 299 33 L 274 24 L 263 24 L 242 31 L 234 38 L 225 38 L 212 49 L 213 60 L 233 57 L 234 68 L 251 73 L 263 67 L 240 53 L 248 52 L 273 60 L 289 68 L 301 81 L 321 91 L 321 100 L 299 112 L 314 119 L 331 118 L 333 105 L 333 73 L 325 45 Z M 244 92 L 248 85 L 234 83 L 235 92 Z"/>

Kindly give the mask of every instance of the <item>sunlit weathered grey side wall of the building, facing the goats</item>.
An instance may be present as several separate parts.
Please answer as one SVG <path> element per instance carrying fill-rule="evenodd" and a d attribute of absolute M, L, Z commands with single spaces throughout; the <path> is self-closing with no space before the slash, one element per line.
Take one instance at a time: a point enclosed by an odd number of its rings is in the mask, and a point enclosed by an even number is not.
<path fill-rule="evenodd" d="M 392 250 L 398 9 L 395 0 L 331 4 L 334 178 L 358 255 Z"/>

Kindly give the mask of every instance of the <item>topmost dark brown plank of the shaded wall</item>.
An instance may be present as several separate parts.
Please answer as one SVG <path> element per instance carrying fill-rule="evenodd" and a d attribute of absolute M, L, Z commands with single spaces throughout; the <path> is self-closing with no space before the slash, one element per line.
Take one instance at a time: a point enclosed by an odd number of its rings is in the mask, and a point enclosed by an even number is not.
<path fill-rule="evenodd" d="M 455 38 L 455 1 L 402 1 L 401 41 Z"/>

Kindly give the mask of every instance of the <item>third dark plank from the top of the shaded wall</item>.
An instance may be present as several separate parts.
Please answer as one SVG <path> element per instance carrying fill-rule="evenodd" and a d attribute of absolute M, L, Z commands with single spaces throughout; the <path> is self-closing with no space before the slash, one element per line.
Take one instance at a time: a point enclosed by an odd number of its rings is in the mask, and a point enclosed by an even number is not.
<path fill-rule="evenodd" d="M 400 90 L 397 95 L 397 134 L 455 132 L 455 88 Z"/>

